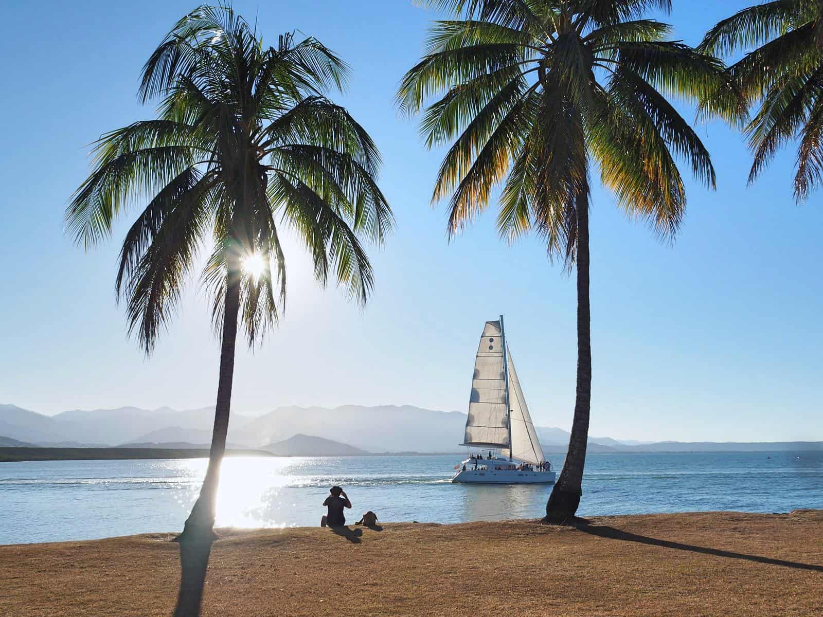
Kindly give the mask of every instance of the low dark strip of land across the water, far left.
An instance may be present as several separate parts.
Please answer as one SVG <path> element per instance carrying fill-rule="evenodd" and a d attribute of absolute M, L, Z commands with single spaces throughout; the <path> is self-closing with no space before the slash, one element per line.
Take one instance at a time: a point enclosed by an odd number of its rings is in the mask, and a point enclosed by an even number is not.
<path fill-rule="evenodd" d="M 273 457 L 264 450 L 226 450 L 227 457 Z M 208 449 L 170 448 L 0 448 L 0 462 L 120 461 L 153 458 L 205 458 Z"/>

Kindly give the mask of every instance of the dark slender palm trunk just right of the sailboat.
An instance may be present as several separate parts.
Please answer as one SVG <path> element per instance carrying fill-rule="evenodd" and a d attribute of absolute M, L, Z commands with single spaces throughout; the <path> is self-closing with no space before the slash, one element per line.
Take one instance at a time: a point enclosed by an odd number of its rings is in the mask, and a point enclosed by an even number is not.
<path fill-rule="evenodd" d="M 588 303 L 588 187 L 577 199 L 577 396 L 569 452 L 546 503 L 545 522 L 574 519 L 583 495 L 583 468 L 592 409 L 592 335 Z"/>

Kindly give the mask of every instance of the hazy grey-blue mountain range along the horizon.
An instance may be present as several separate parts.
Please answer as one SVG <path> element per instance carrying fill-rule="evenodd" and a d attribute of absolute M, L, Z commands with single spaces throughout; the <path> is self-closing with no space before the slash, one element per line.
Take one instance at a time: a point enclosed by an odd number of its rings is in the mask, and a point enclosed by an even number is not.
<path fill-rule="evenodd" d="M 120 407 L 109 410 L 72 410 L 42 415 L 14 405 L 0 405 L 3 438 L 50 447 L 207 448 L 212 440 L 214 408 L 177 411 Z M 413 406 L 279 407 L 259 417 L 232 415 L 228 441 L 231 448 L 291 448 L 306 439 L 333 448 L 335 454 L 356 452 L 458 452 L 466 414 Z M 569 433 L 537 427 L 546 453 L 565 453 Z M 289 441 L 291 443 L 289 443 Z M 589 438 L 589 452 L 719 452 L 823 449 L 823 442 L 713 443 L 638 442 L 609 437 Z M 333 449 L 332 448 L 332 449 Z M 277 452 L 286 453 L 286 452 Z"/>

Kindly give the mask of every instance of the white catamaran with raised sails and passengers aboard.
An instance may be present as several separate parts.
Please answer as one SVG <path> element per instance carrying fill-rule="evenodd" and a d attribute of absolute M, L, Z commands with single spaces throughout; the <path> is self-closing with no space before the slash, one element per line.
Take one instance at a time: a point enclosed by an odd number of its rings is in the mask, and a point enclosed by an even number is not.
<path fill-rule="evenodd" d="M 509 485 L 555 481 L 514 370 L 503 315 L 483 327 L 474 361 L 466 433 L 460 445 L 480 452 L 454 466 L 453 482 Z"/>

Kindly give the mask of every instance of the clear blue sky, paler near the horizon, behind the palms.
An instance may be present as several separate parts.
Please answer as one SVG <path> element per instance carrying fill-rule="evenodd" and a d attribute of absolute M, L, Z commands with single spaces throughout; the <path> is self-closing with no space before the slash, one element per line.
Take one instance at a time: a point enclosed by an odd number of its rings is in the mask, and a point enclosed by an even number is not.
<path fill-rule="evenodd" d="M 696 44 L 741 0 L 675 0 L 667 20 Z M 4 95 L 0 225 L 0 402 L 54 414 L 125 405 L 211 405 L 218 348 L 194 282 L 156 352 L 128 340 L 114 299 L 124 219 L 83 253 L 63 209 L 88 174 L 86 144 L 149 118 L 137 104 L 142 64 L 195 6 L 145 2 L 13 2 L 0 39 Z M 281 327 L 235 365 L 233 411 L 281 405 L 411 404 L 465 411 L 483 322 L 504 313 L 537 424 L 568 428 L 574 406 L 574 280 L 537 239 L 506 247 L 494 213 L 447 243 L 430 207 L 442 152 L 428 152 L 393 108 L 435 16 L 409 0 L 235 2 L 268 41 L 318 37 L 353 67 L 337 97 L 384 155 L 381 185 L 397 233 L 373 250 L 376 293 L 365 312 L 319 290 L 288 251 Z M 686 110 L 688 113 L 688 110 Z M 688 118 L 691 118 L 689 113 Z M 718 190 L 691 181 L 677 243 L 659 244 L 593 191 L 591 433 L 677 440 L 823 439 L 823 195 L 793 202 L 793 151 L 753 187 L 741 137 L 701 127 Z M 684 172 L 684 175 L 686 172 Z M 132 213 L 133 214 L 133 213 Z M 240 348 L 242 349 L 242 347 Z"/>

